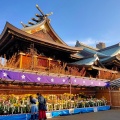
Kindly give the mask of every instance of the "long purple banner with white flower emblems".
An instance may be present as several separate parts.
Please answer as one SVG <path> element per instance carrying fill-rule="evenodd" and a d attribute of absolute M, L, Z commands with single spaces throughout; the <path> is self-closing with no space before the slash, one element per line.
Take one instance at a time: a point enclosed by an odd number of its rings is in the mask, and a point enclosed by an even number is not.
<path fill-rule="evenodd" d="M 54 75 L 41 75 L 35 73 L 0 70 L 0 78 L 6 81 L 33 82 L 56 85 L 78 85 L 78 86 L 106 86 L 105 81 L 90 78 L 60 77 Z"/>

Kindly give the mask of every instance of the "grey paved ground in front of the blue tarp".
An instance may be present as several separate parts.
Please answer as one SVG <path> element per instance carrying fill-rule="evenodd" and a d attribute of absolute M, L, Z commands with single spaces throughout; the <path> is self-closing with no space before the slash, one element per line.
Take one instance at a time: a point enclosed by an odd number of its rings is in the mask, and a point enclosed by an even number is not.
<path fill-rule="evenodd" d="M 120 109 L 59 116 L 48 120 L 120 120 Z"/>

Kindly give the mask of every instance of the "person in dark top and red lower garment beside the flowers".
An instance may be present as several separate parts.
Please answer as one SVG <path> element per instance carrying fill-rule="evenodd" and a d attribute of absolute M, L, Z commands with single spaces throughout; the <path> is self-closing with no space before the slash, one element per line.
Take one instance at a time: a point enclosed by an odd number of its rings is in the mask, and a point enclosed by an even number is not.
<path fill-rule="evenodd" d="M 38 103 L 39 103 L 39 105 L 38 105 L 38 109 L 39 109 L 38 118 L 39 118 L 39 120 L 46 120 L 47 119 L 47 117 L 46 117 L 46 111 L 47 111 L 47 109 L 46 109 L 46 100 L 39 93 L 37 93 L 37 96 L 38 96 Z"/>

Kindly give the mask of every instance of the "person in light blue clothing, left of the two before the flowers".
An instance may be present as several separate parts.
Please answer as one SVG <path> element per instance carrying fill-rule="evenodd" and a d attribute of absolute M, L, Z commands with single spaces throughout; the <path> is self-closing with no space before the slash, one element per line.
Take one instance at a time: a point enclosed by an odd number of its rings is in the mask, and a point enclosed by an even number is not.
<path fill-rule="evenodd" d="M 37 120 L 37 113 L 38 113 L 38 106 L 36 105 L 36 99 L 33 96 L 30 96 L 30 103 L 31 103 L 31 119 L 30 120 Z"/>

